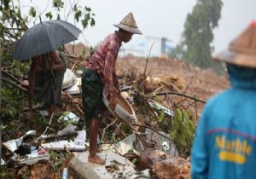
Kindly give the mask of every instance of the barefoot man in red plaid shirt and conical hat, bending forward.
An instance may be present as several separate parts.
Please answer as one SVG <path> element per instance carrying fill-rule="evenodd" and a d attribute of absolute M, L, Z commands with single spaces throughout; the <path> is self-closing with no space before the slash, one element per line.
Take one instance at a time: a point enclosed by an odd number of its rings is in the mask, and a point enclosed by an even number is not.
<path fill-rule="evenodd" d="M 97 47 L 82 75 L 84 117 L 90 123 L 88 160 L 99 165 L 105 164 L 105 160 L 96 154 L 100 152 L 96 148 L 96 136 L 101 123 L 102 112 L 106 109 L 102 101 L 102 89 L 104 88 L 109 106 L 114 109 L 117 97 L 120 95 L 119 81 L 115 72 L 119 48 L 122 42 L 128 43 L 133 34 L 142 34 L 131 13 L 114 26 L 118 27 L 119 30 L 108 35 Z"/>

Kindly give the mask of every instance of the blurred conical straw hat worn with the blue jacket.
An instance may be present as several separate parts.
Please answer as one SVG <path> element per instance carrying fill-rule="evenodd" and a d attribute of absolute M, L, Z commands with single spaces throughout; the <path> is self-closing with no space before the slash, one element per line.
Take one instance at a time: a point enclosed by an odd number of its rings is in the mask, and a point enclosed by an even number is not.
<path fill-rule="evenodd" d="M 256 68 L 256 21 L 254 20 L 241 35 L 230 43 L 229 49 L 214 55 L 213 59 Z"/>

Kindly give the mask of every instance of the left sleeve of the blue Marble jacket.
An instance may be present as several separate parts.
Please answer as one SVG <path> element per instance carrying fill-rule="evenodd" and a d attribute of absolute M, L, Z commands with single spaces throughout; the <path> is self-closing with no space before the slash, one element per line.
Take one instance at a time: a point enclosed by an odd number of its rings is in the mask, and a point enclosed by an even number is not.
<path fill-rule="evenodd" d="M 207 150 L 207 110 L 202 113 L 195 131 L 191 150 L 191 179 L 207 179 L 208 150 Z"/>

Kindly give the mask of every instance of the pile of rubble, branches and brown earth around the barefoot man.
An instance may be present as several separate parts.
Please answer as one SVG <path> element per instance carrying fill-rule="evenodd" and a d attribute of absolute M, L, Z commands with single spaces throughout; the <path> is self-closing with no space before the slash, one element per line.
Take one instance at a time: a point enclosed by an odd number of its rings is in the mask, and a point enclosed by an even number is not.
<path fill-rule="evenodd" d="M 131 103 L 137 118 L 133 124 L 123 124 L 110 113 L 104 115 L 97 143 L 107 164 L 97 166 L 86 157 L 88 124 L 80 95 L 81 71 L 86 63 L 75 55 L 67 57 L 63 107 L 49 124 L 3 142 L 3 160 L 17 169 L 16 176 L 45 178 L 44 169 L 51 178 L 61 178 L 62 173 L 70 174 L 69 178 L 189 178 L 196 121 L 205 101 L 228 87 L 224 77 L 170 58 L 150 59 L 147 74 L 146 59 L 119 59 L 122 96 Z M 81 168 L 84 165 L 86 170 Z"/>

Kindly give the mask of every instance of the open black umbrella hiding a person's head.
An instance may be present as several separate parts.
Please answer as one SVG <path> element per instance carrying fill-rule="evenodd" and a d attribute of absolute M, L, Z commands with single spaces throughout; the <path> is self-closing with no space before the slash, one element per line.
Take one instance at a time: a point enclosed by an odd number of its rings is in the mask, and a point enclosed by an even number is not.
<path fill-rule="evenodd" d="M 64 20 L 48 20 L 29 28 L 20 38 L 13 53 L 14 59 L 26 60 L 60 48 L 79 38 L 81 31 Z"/>

